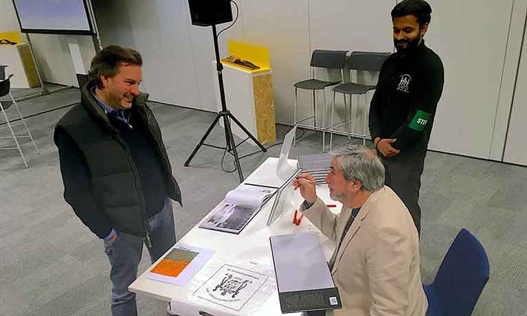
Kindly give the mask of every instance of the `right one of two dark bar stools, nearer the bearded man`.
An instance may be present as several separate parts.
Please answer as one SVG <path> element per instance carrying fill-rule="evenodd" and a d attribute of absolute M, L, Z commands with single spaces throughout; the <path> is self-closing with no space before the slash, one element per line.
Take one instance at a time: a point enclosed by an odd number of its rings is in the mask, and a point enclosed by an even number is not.
<path fill-rule="evenodd" d="M 386 60 L 390 56 L 390 53 L 380 53 L 380 52 L 352 52 L 350 58 L 346 61 L 346 69 L 350 69 L 350 71 L 381 71 L 381 67 Z M 333 106 L 331 106 L 331 129 L 330 129 L 330 141 L 329 141 L 329 148 L 331 150 L 333 146 L 333 133 L 339 132 L 343 133 L 344 135 L 348 135 L 348 137 L 360 137 L 363 139 L 363 144 L 366 144 L 366 137 L 368 137 L 367 132 L 367 122 L 368 122 L 368 95 L 366 94 L 368 91 L 374 90 L 376 85 L 368 85 L 368 84 L 359 84 L 355 82 L 348 82 L 344 84 L 339 84 L 337 87 L 333 88 Z M 344 96 L 344 107 L 346 108 L 346 119 L 342 120 L 338 123 L 333 123 L 333 117 L 335 113 L 335 94 L 336 93 L 342 93 Z M 351 95 L 364 95 L 365 100 L 365 108 L 363 111 L 363 133 L 357 134 L 357 133 L 351 133 L 350 132 L 350 126 L 352 124 L 351 120 L 351 111 L 352 111 L 352 98 Z M 348 109 L 348 104 L 346 104 L 346 95 L 350 95 L 350 107 Z M 342 126 L 347 126 L 348 131 L 338 131 L 337 128 L 340 128 Z"/>

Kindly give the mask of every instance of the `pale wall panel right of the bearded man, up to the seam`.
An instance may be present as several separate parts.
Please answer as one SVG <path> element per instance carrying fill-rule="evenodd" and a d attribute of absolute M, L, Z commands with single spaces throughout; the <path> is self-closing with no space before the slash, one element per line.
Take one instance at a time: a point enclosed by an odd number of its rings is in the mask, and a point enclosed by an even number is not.
<path fill-rule="evenodd" d="M 489 159 L 513 0 L 429 0 L 427 45 L 445 65 L 430 149 Z"/>

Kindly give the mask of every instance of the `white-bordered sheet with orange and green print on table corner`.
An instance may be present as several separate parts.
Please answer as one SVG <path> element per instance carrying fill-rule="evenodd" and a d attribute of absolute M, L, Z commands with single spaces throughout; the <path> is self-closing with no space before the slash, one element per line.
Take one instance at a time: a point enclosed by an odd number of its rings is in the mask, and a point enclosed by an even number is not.
<path fill-rule="evenodd" d="M 189 245 L 176 245 L 150 270 L 147 278 L 159 282 L 185 286 L 208 262 L 214 251 Z"/>

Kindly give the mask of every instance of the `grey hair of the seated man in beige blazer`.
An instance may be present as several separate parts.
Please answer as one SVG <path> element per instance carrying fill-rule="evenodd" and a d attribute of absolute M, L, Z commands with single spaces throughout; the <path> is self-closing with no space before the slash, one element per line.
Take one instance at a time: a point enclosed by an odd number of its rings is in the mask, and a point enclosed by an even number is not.
<path fill-rule="evenodd" d="M 361 145 L 332 150 L 346 181 L 359 181 L 361 190 L 377 191 L 384 185 L 384 166 L 374 151 Z"/>

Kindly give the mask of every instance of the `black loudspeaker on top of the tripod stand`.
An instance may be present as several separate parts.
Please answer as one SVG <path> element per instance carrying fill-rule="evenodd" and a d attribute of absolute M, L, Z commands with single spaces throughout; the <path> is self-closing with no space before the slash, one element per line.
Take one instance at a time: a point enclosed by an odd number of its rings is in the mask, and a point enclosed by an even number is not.
<path fill-rule="evenodd" d="M 192 24 L 210 26 L 232 21 L 230 0 L 188 0 Z"/>

